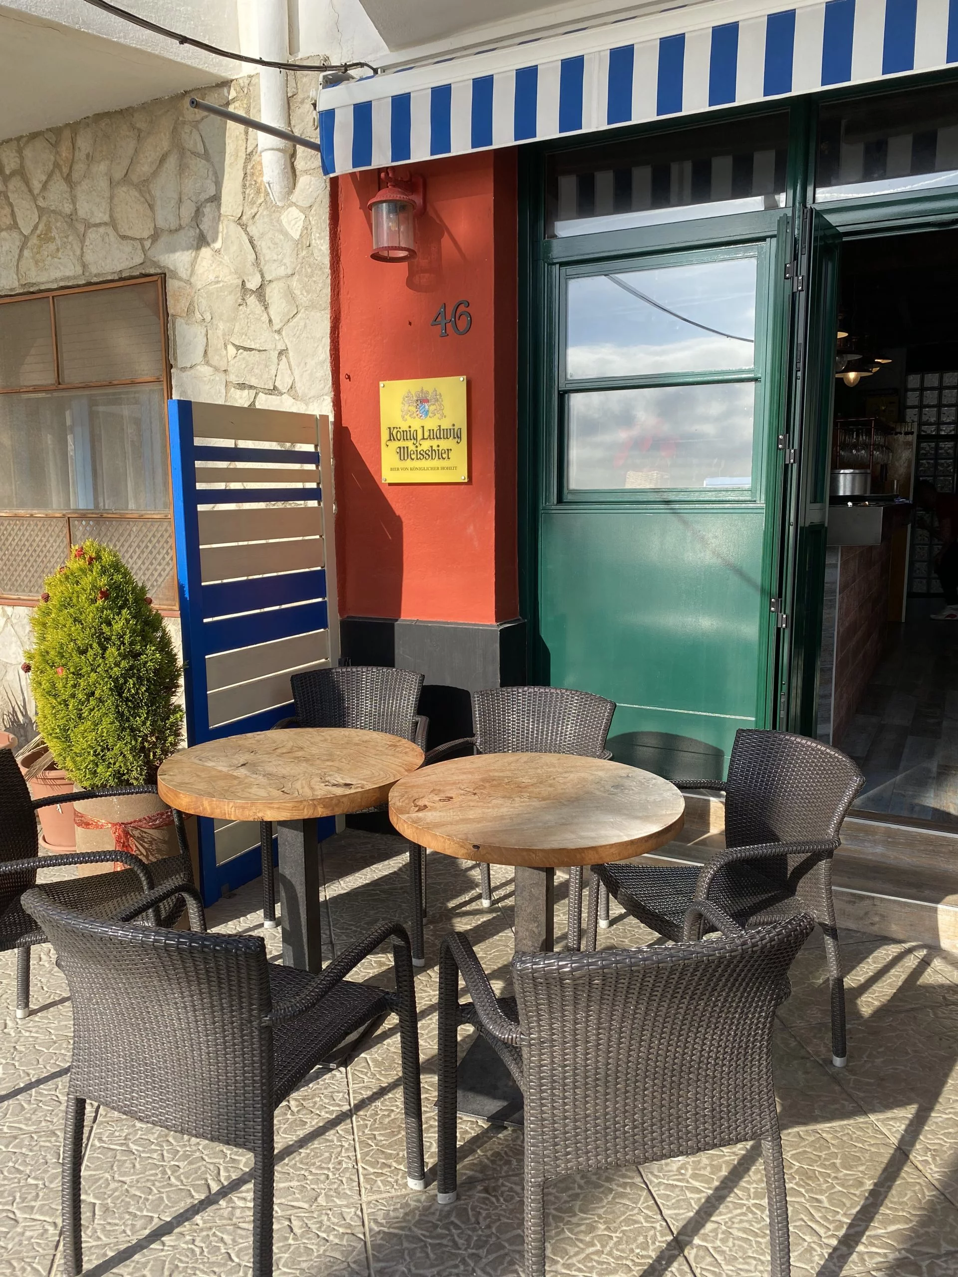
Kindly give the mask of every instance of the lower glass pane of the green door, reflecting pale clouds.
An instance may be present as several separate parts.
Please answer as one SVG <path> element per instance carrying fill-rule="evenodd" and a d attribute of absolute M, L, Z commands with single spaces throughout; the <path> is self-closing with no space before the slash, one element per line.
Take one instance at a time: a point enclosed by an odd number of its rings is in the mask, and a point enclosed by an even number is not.
<path fill-rule="evenodd" d="M 755 383 L 568 396 L 568 487 L 703 488 L 751 475 Z"/>

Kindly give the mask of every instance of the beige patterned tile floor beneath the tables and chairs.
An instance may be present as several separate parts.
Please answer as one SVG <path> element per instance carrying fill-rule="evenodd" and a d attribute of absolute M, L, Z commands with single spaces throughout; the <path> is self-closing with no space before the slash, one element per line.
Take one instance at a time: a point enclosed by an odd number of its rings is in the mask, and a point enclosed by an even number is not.
<path fill-rule="evenodd" d="M 327 951 L 406 911 L 395 838 L 346 831 L 324 848 Z M 478 872 L 429 856 L 427 968 L 416 977 L 427 1161 L 434 1165 L 436 958 L 470 932 L 494 982 L 508 976 L 511 876 L 479 904 Z M 209 911 L 258 930 L 259 884 Z M 565 881 L 561 884 L 565 893 Z M 614 911 L 613 904 L 613 911 Z M 563 926 L 559 908 L 557 926 Z M 648 932 L 613 912 L 605 945 Z M 558 942 L 562 944 L 559 936 Z M 824 956 L 800 954 L 777 1029 L 792 1221 L 801 1277 L 958 1277 L 958 958 L 849 932 L 849 1064 L 830 1059 Z M 70 1008 L 49 949 L 34 951 L 37 1014 L 13 1018 L 13 955 L 0 956 L 0 1273 L 59 1271 L 59 1156 Z M 381 978 L 388 958 L 363 974 Z M 349 1070 L 316 1075 L 277 1114 L 276 1272 L 299 1277 L 520 1277 L 521 1135 L 462 1121 L 460 1195 L 406 1188 L 397 1041 L 388 1025 Z M 98 1111 L 83 1168 L 87 1273 L 249 1273 L 250 1158 Z M 719 1152 L 554 1184 L 549 1277 L 727 1277 L 768 1272 L 759 1149 Z"/>

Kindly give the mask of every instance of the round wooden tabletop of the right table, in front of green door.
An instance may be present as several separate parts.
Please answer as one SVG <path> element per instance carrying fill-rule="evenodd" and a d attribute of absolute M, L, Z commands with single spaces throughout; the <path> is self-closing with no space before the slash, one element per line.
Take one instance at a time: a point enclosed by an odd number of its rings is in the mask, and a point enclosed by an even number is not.
<path fill-rule="evenodd" d="M 685 821 L 678 789 L 637 767 L 567 753 L 485 753 L 393 785 L 410 842 L 492 865 L 600 865 L 655 850 Z"/>

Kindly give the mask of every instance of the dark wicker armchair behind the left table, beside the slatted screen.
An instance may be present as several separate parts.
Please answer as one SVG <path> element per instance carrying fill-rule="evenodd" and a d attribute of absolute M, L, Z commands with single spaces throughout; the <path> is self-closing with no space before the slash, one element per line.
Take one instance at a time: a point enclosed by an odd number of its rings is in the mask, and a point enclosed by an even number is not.
<path fill-rule="evenodd" d="M 290 678 L 296 713 L 278 722 L 276 727 L 351 727 L 368 732 L 388 732 L 390 736 L 414 741 L 420 750 L 425 750 L 429 719 L 416 713 L 423 682 L 423 676 L 411 669 L 391 669 L 386 665 L 308 669 Z M 386 811 L 386 807 L 368 810 Z M 262 821 L 259 825 L 259 853 L 263 870 L 263 926 L 275 927 L 273 826 L 268 821 Z M 418 850 L 410 848 L 410 862 L 413 861 L 418 863 Z M 418 967 L 422 965 L 422 917 L 416 921 L 414 903 L 413 962 Z"/>

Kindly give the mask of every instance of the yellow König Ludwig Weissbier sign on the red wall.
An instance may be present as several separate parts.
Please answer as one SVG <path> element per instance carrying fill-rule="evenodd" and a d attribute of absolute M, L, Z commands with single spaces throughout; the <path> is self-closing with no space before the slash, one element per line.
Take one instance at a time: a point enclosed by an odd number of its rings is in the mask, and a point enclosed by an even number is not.
<path fill-rule="evenodd" d="M 465 377 L 379 382 L 383 483 L 469 479 Z"/>

